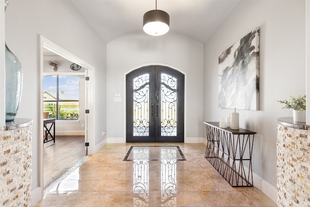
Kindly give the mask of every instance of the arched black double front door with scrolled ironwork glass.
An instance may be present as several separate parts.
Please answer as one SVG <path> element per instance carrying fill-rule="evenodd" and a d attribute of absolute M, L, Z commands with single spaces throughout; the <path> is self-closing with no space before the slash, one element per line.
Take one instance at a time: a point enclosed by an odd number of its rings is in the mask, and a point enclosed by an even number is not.
<path fill-rule="evenodd" d="M 184 142 L 184 75 L 146 66 L 126 75 L 126 142 Z"/>

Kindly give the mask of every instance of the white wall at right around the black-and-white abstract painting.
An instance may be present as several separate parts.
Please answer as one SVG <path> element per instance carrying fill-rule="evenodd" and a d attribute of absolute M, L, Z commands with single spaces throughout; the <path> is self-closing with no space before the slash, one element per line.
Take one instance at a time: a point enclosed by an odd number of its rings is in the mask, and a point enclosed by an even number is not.
<path fill-rule="evenodd" d="M 236 41 L 260 27 L 260 111 L 238 110 L 240 127 L 257 132 L 253 173 L 263 189 L 277 184 L 277 118 L 292 116 L 277 102 L 306 92 L 305 1 L 242 0 L 204 45 L 204 119 L 220 121 L 231 109 L 218 108 L 218 56 Z M 264 191 L 264 189 L 263 189 Z"/>

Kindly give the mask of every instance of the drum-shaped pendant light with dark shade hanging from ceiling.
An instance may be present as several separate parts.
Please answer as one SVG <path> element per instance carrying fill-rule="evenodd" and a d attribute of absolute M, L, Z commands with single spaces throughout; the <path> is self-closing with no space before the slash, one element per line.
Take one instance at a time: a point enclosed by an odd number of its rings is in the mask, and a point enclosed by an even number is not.
<path fill-rule="evenodd" d="M 160 36 L 169 31 L 169 24 L 170 16 L 167 12 L 157 10 L 157 0 L 155 0 L 155 10 L 143 15 L 143 31 L 152 36 Z"/>

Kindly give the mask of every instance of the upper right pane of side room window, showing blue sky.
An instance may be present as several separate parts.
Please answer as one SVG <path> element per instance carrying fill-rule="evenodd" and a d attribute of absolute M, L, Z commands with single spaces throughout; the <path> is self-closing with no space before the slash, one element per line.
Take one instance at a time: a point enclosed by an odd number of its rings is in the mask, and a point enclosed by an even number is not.
<path fill-rule="evenodd" d="M 78 100 L 78 78 L 59 76 L 59 100 Z"/>

